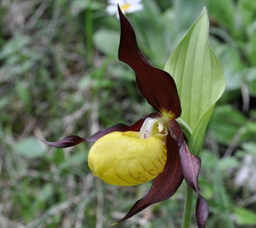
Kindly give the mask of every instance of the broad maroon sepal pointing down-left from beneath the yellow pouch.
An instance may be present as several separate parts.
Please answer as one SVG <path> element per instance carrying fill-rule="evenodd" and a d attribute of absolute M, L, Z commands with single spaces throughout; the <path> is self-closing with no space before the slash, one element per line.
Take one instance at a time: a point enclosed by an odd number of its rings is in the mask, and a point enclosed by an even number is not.
<path fill-rule="evenodd" d="M 167 160 L 164 171 L 154 179 L 148 194 L 138 200 L 126 216 L 117 223 L 134 216 L 134 214 L 137 214 L 153 203 L 169 199 L 174 195 L 174 193 L 176 193 L 178 187 L 180 187 L 180 184 L 183 181 L 183 175 L 180 167 L 180 155 L 178 153 L 178 146 L 170 134 L 167 136 L 166 147 Z"/>

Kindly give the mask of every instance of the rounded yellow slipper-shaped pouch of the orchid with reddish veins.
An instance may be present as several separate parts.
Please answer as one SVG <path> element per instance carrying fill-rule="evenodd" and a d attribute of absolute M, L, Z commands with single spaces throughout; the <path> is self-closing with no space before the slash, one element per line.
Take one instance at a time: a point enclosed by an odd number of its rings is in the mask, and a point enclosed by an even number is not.
<path fill-rule="evenodd" d="M 93 175 L 120 186 L 151 181 L 164 170 L 166 163 L 167 133 L 161 134 L 164 137 L 159 135 L 158 132 L 156 137 L 139 138 L 139 132 L 112 132 L 103 136 L 88 154 Z"/>

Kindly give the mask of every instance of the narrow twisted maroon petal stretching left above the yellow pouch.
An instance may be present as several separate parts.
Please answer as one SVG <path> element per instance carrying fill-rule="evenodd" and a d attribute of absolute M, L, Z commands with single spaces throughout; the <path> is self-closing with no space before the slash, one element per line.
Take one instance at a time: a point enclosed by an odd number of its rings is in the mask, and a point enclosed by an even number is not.
<path fill-rule="evenodd" d="M 138 132 L 138 131 L 140 131 L 140 128 L 141 128 L 142 124 L 144 123 L 144 121 L 146 120 L 146 118 L 148 118 L 148 117 L 158 118 L 161 116 L 162 116 L 162 114 L 160 114 L 158 112 L 153 112 L 147 116 L 144 116 L 143 118 L 138 120 L 132 126 L 127 126 L 125 124 L 116 124 L 106 130 L 101 130 L 101 131 L 95 133 L 93 136 L 89 137 L 88 139 L 83 139 L 83 138 L 80 138 L 79 136 L 68 136 L 58 142 L 48 142 L 48 141 L 44 141 L 44 140 L 40 140 L 40 141 L 44 142 L 47 145 L 50 145 L 52 147 L 57 147 L 57 148 L 71 147 L 71 146 L 77 145 L 84 141 L 87 141 L 90 143 L 95 143 L 98 139 L 100 139 L 101 137 L 103 137 L 106 134 L 109 134 L 111 132 L 128 132 L 128 131 Z"/>

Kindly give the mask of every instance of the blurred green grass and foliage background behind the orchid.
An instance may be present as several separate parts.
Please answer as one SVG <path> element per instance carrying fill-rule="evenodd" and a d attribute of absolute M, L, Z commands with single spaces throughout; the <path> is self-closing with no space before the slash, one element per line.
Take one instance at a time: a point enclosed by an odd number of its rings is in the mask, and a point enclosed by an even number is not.
<path fill-rule="evenodd" d="M 206 226 L 256 227 L 256 0 L 142 3 L 142 11 L 127 16 L 142 52 L 161 69 L 207 7 L 226 90 L 200 155 Z M 154 111 L 133 71 L 118 61 L 119 21 L 106 6 L 103 0 L 0 2 L 0 227 L 110 227 L 150 188 L 93 177 L 89 143 L 56 149 L 37 140 L 86 138 Z M 117 227 L 180 227 L 184 188 Z"/>

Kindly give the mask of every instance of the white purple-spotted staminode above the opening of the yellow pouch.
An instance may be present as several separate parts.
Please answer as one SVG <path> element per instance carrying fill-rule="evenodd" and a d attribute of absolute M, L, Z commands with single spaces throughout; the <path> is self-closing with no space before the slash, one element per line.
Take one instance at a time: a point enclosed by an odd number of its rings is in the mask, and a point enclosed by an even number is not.
<path fill-rule="evenodd" d="M 165 127 L 166 119 L 165 118 L 146 118 L 142 127 L 140 128 L 140 139 L 148 139 L 152 136 L 159 137 L 160 140 L 166 138 L 167 129 Z M 163 132 L 164 131 L 164 132 Z"/>

